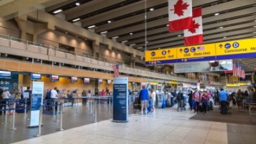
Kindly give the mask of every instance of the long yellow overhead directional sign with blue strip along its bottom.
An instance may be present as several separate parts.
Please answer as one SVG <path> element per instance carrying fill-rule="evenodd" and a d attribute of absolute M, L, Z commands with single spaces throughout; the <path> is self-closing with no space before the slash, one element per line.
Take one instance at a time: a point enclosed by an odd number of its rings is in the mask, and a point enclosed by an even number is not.
<path fill-rule="evenodd" d="M 145 65 L 256 57 L 256 38 L 145 52 Z"/>

